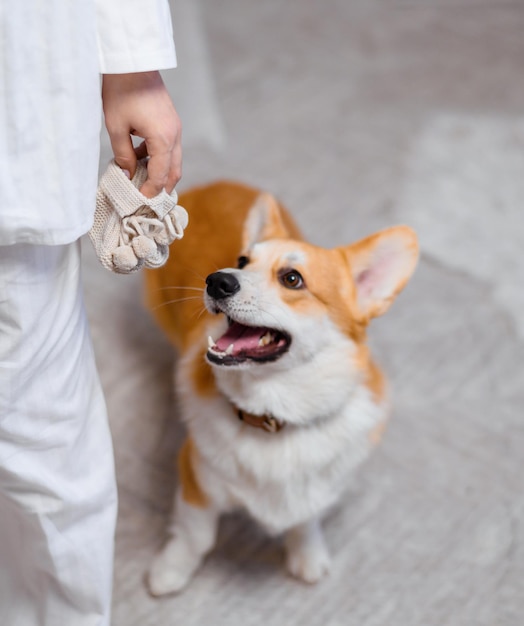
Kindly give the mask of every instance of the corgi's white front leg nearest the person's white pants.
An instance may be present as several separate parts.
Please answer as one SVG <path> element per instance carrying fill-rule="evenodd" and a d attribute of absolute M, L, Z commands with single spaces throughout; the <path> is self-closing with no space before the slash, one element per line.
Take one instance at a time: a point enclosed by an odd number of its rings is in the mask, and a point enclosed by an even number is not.
<path fill-rule="evenodd" d="M 152 595 L 175 593 L 187 585 L 215 545 L 218 517 L 219 511 L 211 503 L 194 506 L 178 490 L 171 537 L 149 571 Z"/>

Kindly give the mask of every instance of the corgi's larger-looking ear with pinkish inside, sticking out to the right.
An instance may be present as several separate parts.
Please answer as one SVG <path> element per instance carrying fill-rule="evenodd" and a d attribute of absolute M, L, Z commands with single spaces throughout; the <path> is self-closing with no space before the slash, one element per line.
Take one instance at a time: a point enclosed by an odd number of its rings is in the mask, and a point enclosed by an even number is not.
<path fill-rule="evenodd" d="M 417 236 L 408 226 L 382 230 L 341 251 L 349 263 L 364 319 L 388 310 L 413 274 L 419 255 Z"/>

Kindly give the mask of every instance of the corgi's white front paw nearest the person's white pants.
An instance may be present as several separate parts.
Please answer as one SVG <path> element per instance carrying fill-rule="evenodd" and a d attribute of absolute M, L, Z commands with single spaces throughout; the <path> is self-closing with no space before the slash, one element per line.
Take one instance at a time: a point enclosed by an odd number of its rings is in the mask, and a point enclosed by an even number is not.
<path fill-rule="evenodd" d="M 155 557 L 149 570 L 148 586 L 151 595 L 163 596 L 181 591 L 191 580 L 202 559 L 191 552 L 177 537 L 165 545 Z"/>

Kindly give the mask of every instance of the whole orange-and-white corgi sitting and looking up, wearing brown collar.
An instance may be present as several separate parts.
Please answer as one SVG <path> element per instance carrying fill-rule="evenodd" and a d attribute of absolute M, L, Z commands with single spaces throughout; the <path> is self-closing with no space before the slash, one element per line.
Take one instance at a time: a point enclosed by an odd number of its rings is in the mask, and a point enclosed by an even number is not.
<path fill-rule="evenodd" d="M 275 198 L 232 182 L 180 203 L 190 227 L 166 265 L 146 273 L 148 306 L 178 351 L 187 426 L 170 538 L 149 589 L 184 588 L 220 515 L 236 509 L 283 535 L 288 571 L 314 583 L 330 567 L 322 517 L 388 418 L 366 329 L 412 275 L 416 235 L 398 226 L 320 248 Z"/>

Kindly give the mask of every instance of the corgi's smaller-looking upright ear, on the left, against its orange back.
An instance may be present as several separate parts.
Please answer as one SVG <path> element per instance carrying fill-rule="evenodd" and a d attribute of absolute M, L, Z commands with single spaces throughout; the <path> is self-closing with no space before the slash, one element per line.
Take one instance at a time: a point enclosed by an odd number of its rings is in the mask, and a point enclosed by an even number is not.
<path fill-rule="evenodd" d="M 255 243 L 266 239 L 290 236 L 280 206 L 269 193 L 261 193 L 251 207 L 244 224 L 242 249 L 249 250 Z"/>

